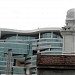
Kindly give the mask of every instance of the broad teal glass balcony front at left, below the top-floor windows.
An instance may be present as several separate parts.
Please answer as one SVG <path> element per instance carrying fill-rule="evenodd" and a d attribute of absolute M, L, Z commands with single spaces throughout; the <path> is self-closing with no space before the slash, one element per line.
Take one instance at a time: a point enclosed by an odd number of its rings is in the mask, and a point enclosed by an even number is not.
<path fill-rule="evenodd" d="M 12 49 L 13 54 L 27 54 L 28 45 L 21 43 L 0 42 L 0 51 L 7 53 L 8 49 Z"/>

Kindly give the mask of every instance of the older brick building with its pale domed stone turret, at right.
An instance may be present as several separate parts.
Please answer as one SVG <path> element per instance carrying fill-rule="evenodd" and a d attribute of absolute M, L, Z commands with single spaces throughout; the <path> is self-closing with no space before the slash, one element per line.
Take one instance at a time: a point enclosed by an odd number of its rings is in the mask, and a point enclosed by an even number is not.
<path fill-rule="evenodd" d="M 61 55 L 37 56 L 38 75 L 75 75 L 75 9 L 66 16 L 66 26 L 61 29 L 63 49 Z"/>

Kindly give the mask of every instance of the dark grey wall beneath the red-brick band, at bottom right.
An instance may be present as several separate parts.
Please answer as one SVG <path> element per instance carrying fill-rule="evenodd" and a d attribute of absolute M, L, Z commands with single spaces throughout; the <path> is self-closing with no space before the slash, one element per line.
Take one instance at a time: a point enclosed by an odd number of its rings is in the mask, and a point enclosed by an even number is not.
<path fill-rule="evenodd" d="M 38 75 L 75 75 L 75 70 L 38 69 Z"/>

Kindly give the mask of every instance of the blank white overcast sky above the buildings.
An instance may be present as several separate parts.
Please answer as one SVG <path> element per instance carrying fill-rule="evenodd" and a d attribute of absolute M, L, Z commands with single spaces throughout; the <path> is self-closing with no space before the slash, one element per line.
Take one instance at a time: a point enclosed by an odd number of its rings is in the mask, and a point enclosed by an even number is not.
<path fill-rule="evenodd" d="M 0 0 L 0 28 L 63 27 L 71 8 L 75 8 L 75 0 Z"/>

